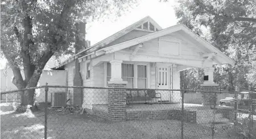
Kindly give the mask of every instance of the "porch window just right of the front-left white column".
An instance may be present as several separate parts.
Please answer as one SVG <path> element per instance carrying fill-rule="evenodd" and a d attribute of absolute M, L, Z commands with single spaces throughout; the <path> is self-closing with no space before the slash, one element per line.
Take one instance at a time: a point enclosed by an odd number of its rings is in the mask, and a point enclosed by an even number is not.
<path fill-rule="evenodd" d="M 134 66 L 133 64 L 122 63 L 122 79 L 127 81 L 127 88 L 133 88 Z"/>

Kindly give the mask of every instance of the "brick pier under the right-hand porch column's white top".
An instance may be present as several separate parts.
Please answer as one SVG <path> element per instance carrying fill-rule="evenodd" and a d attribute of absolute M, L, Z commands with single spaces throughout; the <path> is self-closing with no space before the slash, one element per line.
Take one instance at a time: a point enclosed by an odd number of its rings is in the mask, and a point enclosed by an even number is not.
<path fill-rule="evenodd" d="M 206 92 L 204 92 L 206 91 Z M 207 105 L 214 105 L 214 102 L 217 103 L 217 95 L 215 97 L 214 93 L 212 92 L 217 92 L 218 91 L 218 85 L 214 84 L 214 85 L 201 85 L 201 94 L 202 94 L 202 98 L 203 98 L 203 105 L 207 106 Z"/>

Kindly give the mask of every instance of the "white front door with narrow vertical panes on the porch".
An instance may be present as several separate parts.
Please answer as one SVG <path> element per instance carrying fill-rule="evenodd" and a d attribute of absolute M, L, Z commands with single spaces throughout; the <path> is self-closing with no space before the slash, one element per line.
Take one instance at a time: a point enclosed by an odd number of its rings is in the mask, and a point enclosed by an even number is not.
<path fill-rule="evenodd" d="M 158 89 L 170 89 L 170 69 L 171 66 L 167 64 L 157 64 L 156 66 L 156 83 Z M 159 90 L 158 93 L 161 94 L 162 101 L 170 101 L 170 91 Z M 159 100 L 160 101 L 160 100 Z"/>

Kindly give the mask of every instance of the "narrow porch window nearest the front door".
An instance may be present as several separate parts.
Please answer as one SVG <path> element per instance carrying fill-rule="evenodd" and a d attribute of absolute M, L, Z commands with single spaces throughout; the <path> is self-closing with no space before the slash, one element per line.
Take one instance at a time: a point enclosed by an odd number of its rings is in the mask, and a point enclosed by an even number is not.
<path fill-rule="evenodd" d="M 147 66 L 138 65 L 138 88 L 147 88 Z"/>

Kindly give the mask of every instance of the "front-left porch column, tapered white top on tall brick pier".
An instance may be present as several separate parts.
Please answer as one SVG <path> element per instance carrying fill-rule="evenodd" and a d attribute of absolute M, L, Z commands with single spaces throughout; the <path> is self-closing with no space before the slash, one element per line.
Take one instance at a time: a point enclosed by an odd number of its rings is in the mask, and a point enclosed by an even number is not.
<path fill-rule="evenodd" d="M 127 81 L 122 80 L 122 60 L 112 60 L 110 64 L 112 77 L 108 82 L 108 87 L 112 89 L 108 89 L 108 117 L 112 121 L 125 121 L 126 89 L 124 88 L 126 88 Z"/>

